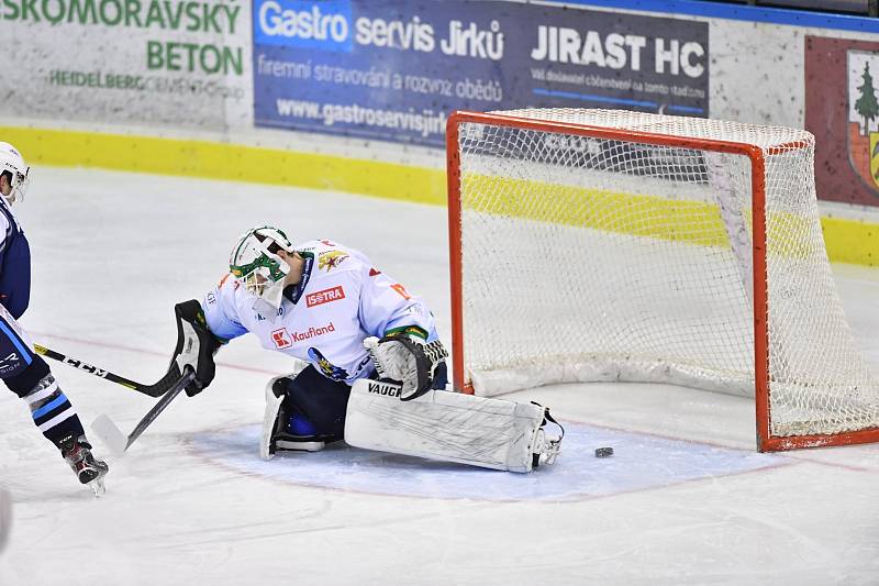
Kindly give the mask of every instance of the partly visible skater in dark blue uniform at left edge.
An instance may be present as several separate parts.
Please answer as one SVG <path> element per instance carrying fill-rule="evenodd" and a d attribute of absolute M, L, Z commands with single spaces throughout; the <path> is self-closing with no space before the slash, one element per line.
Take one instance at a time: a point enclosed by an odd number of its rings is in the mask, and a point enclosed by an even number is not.
<path fill-rule="evenodd" d="M 34 424 L 79 482 L 101 495 L 108 466 L 91 454 L 76 410 L 16 321 L 30 302 L 31 250 L 12 206 L 24 200 L 29 174 L 21 154 L 0 142 L 0 378 L 27 403 Z"/>

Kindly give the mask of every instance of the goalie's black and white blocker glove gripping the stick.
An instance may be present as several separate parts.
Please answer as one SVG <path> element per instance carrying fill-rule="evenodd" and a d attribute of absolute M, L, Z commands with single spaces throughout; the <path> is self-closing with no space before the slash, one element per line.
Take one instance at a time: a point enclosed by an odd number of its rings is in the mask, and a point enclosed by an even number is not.
<path fill-rule="evenodd" d="M 196 379 L 186 387 L 186 394 L 194 397 L 213 380 L 216 366 L 213 355 L 222 345 L 208 329 L 204 312 L 194 299 L 174 306 L 177 317 L 177 347 L 174 349 L 171 368 L 182 375 L 186 366 L 191 366 Z"/>

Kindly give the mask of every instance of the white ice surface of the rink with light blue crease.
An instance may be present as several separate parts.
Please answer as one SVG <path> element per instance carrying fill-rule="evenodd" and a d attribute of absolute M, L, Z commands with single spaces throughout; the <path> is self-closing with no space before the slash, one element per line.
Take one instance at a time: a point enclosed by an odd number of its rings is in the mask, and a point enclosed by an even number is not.
<path fill-rule="evenodd" d="M 34 342 L 131 378 L 164 372 L 174 303 L 220 279 L 259 222 L 363 250 L 426 298 L 448 339 L 444 208 L 41 168 L 20 214 Z M 879 369 L 879 270 L 835 272 Z M 263 463 L 263 387 L 286 360 L 244 338 L 218 361 L 209 389 L 108 458 L 100 499 L 0 390 L 0 485 L 14 499 L 0 585 L 879 584 L 879 445 L 757 454 L 749 399 L 659 385 L 514 394 L 569 429 L 556 467 L 532 475 L 344 446 Z M 87 428 L 107 413 L 131 430 L 154 403 L 51 366 Z M 603 444 L 616 454 L 592 457 Z"/>

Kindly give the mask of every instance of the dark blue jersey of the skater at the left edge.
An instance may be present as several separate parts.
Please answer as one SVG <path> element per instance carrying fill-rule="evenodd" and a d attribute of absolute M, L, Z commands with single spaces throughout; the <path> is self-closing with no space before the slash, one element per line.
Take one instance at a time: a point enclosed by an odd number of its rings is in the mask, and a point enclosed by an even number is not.
<path fill-rule="evenodd" d="M 31 300 L 31 247 L 0 198 L 0 305 L 19 319 Z"/>

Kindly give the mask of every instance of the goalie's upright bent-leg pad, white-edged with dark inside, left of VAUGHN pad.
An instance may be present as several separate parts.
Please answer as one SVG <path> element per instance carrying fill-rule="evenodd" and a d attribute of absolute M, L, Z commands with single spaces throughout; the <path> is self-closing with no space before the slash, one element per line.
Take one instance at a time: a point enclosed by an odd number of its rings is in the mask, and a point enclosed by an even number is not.
<path fill-rule="evenodd" d="M 316 452 L 325 442 L 316 436 L 314 424 L 293 405 L 287 395 L 288 385 L 302 372 L 276 376 L 266 385 L 266 411 L 263 417 L 263 434 L 259 441 L 259 457 L 271 460 L 278 450 Z"/>

